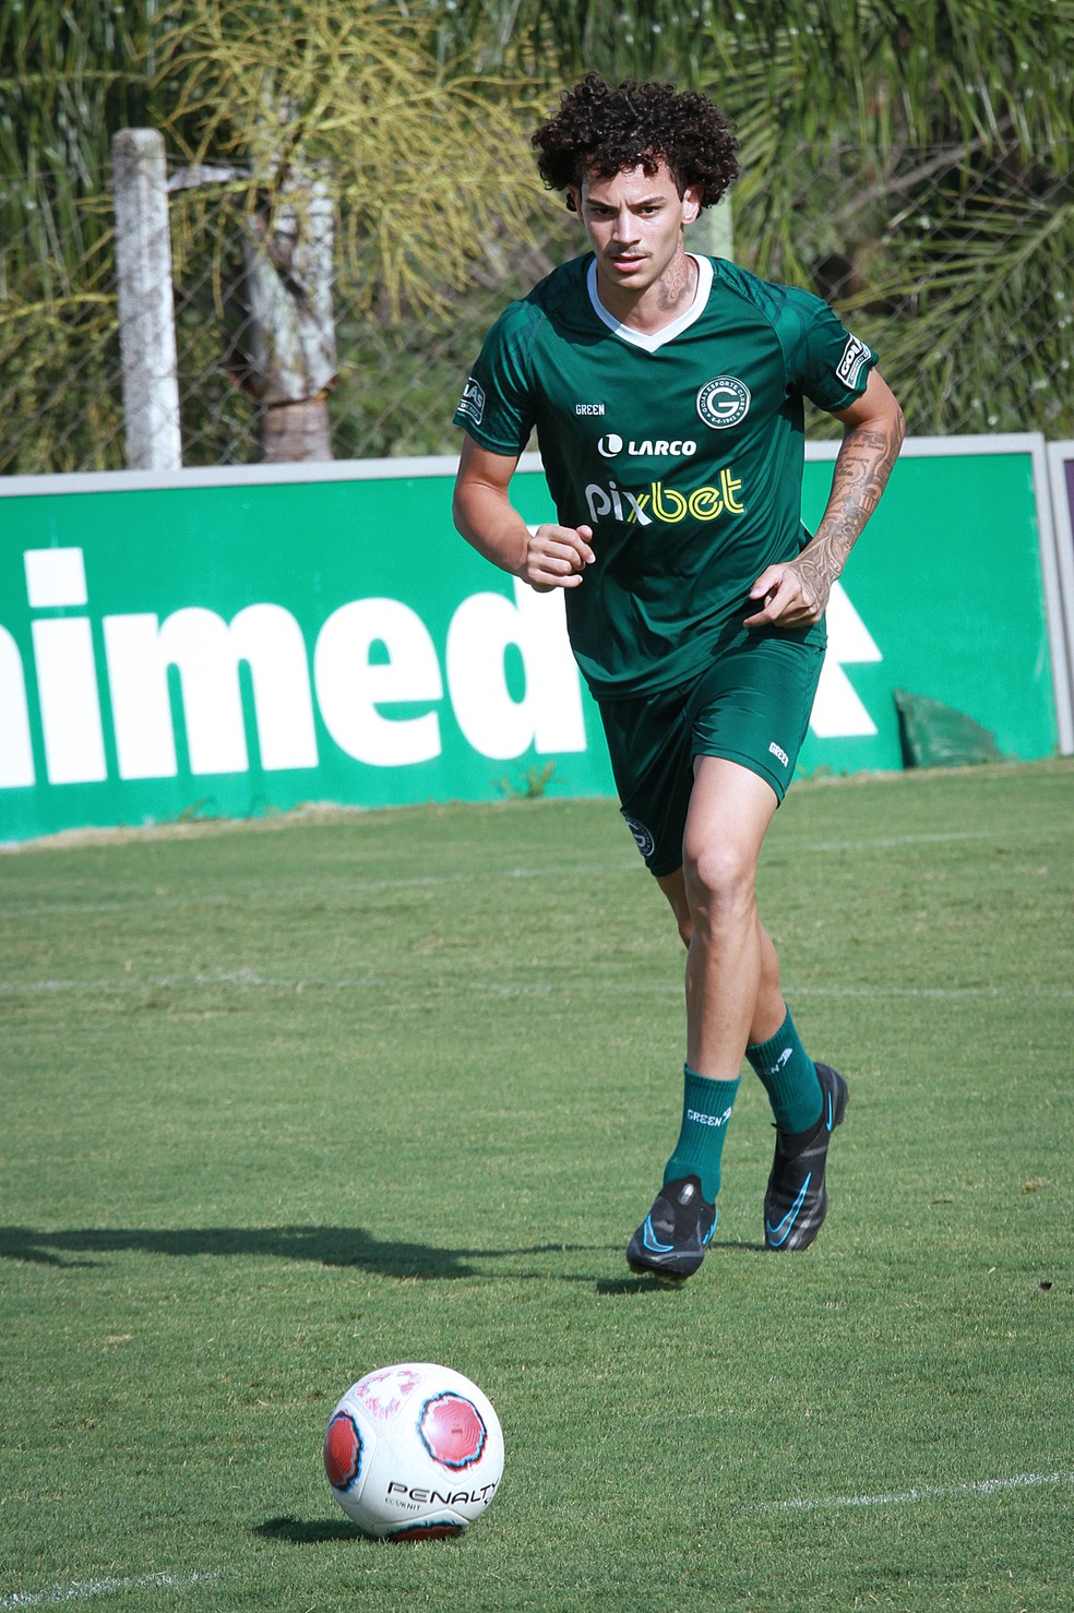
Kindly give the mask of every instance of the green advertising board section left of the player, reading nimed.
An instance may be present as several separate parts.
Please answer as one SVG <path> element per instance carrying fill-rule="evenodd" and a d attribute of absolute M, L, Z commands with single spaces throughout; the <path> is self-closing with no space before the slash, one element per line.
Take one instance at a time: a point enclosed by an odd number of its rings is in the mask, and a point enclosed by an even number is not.
<path fill-rule="evenodd" d="M 5 502 L 3 837 L 487 800 L 531 769 L 610 792 L 563 600 L 453 534 L 443 466 L 198 481 Z"/>

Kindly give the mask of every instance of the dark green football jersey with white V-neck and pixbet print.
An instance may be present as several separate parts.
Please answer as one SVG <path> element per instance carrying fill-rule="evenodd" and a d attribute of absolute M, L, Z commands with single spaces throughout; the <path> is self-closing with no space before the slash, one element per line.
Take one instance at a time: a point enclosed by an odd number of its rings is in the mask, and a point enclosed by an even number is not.
<path fill-rule="evenodd" d="M 535 427 L 560 523 L 592 527 L 566 610 L 597 697 L 685 682 L 742 631 L 760 574 L 810 540 L 803 397 L 848 408 L 876 363 L 819 297 L 695 261 L 692 306 L 653 336 L 602 305 L 592 253 L 566 263 L 503 311 L 455 415 L 492 453 Z"/>

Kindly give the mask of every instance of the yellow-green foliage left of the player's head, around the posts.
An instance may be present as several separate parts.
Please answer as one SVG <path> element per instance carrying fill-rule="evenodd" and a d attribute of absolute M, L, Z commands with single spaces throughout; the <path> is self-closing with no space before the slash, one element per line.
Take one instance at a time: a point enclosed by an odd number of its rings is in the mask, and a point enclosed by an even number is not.
<path fill-rule="evenodd" d="M 45 34 L 42 94 L 27 61 Z M 16 177 L 0 194 L 0 373 L 21 431 L 0 469 L 123 463 L 110 137 L 145 121 L 173 158 L 192 168 L 211 158 L 232 174 L 223 197 L 200 185 L 173 203 L 184 361 L 197 377 L 182 397 L 187 463 L 232 458 L 235 444 L 252 456 L 252 410 L 223 361 L 223 337 L 244 318 L 232 308 L 237 240 L 255 213 L 271 224 L 297 173 L 331 174 L 334 290 L 352 318 L 376 306 L 390 323 L 403 303 L 411 316 L 443 316 L 497 232 L 532 239 L 539 184 L 518 97 L 464 60 L 437 63 L 427 18 L 379 0 L 129 11 L 92 0 L 77 21 L 45 0 L 10 8 L 0 155 Z M 106 356 L 113 384 L 102 387 Z M 42 398 L 63 400 L 61 421 L 39 426 Z"/>

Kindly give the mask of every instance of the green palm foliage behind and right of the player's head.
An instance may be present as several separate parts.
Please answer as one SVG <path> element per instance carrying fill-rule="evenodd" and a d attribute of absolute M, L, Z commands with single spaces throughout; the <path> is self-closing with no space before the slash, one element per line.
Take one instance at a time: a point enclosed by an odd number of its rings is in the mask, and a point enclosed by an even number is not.
<path fill-rule="evenodd" d="M 740 140 L 735 256 L 853 318 L 913 432 L 1074 431 L 1071 0 L 460 0 L 452 16 L 550 98 L 590 68 L 711 94 Z"/>

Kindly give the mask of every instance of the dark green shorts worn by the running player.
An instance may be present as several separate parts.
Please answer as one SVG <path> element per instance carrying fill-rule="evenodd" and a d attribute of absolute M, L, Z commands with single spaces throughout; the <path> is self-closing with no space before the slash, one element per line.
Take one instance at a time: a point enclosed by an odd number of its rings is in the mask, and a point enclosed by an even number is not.
<path fill-rule="evenodd" d="M 821 645 L 750 634 L 689 684 L 600 702 L 621 811 L 651 874 L 682 865 L 695 756 L 737 761 L 782 802 L 822 663 Z"/>

